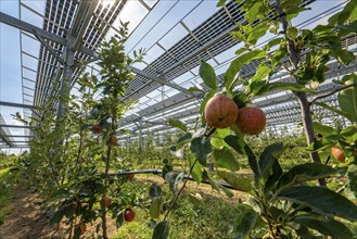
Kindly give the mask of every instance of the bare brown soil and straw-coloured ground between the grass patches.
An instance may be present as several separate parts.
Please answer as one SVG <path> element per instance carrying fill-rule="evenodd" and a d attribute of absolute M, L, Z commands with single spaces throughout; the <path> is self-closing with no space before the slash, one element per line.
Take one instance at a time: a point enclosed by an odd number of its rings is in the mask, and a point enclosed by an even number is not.
<path fill-rule="evenodd" d="M 161 177 L 153 175 L 137 175 L 136 180 L 155 181 L 158 185 L 165 184 Z M 238 199 L 242 199 L 243 201 L 246 199 L 246 194 L 239 191 L 233 191 L 233 198 L 227 198 L 224 194 L 213 191 L 209 185 L 197 185 L 193 181 L 189 181 L 186 187 L 191 193 L 199 192 L 203 198 L 216 197 L 220 200 L 235 202 Z M 39 199 L 35 192 L 24 185 L 17 185 L 13 191 L 13 200 L 8 206 L 9 215 L 5 217 L 4 224 L 0 225 L 0 239 L 67 238 L 66 225 L 61 224 L 60 227 L 49 225 L 49 218 L 40 213 L 37 202 L 39 202 Z M 95 231 L 95 225 L 97 223 L 87 225 L 87 231 L 81 238 L 93 238 L 92 234 Z M 115 224 L 111 218 L 107 218 L 107 232 L 110 238 L 117 232 Z"/>

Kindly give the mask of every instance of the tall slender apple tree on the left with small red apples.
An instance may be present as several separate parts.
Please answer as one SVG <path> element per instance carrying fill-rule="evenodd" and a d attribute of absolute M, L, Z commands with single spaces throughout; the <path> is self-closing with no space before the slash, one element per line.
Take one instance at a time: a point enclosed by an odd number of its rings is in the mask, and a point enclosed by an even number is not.
<path fill-rule="evenodd" d="M 78 92 L 61 99 L 68 105 L 62 118 L 55 117 L 52 95 L 41 116 L 28 123 L 35 137 L 24 169 L 51 223 L 68 225 L 69 238 L 79 238 L 94 224 L 97 235 L 106 239 L 107 218 L 117 227 L 131 222 L 133 206 L 145 200 L 144 191 L 125 187 L 131 176 L 111 175 L 127 168 L 126 162 L 117 160 L 118 120 L 133 104 L 123 100 L 135 78 L 128 66 L 143 56 L 142 50 L 135 52 L 135 59 L 126 55 L 127 25 L 123 24 L 119 36 L 100 46 L 99 74 L 81 72 Z"/>

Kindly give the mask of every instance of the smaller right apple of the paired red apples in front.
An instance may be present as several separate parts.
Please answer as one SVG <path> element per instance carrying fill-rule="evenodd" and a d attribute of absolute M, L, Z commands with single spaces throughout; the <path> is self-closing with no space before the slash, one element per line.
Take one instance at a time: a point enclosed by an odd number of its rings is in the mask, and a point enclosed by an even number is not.
<path fill-rule="evenodd" d="M 258 135 L 266 122 L 265 113 L 260 109 L 245 106 L 239 111 L 237 126 L 245 135 Z"/>

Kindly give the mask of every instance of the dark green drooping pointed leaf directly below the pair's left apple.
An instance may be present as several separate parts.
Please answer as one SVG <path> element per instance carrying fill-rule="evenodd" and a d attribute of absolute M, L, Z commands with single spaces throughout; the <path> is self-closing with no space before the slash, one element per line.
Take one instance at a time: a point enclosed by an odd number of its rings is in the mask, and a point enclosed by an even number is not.
<path fill-rule="evenodd" d="M 207 165 L 206 161 L 208 154 L 212 152 L 209 138 L 201 136 L 192 139 L 190 150 L 203 166 Z"/>

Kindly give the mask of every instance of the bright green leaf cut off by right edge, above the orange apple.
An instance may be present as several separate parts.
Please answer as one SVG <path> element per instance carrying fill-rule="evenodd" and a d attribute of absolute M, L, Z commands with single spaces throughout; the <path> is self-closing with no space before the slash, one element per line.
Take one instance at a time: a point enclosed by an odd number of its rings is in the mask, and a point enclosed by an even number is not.
<path fill-rule="evenodd" d="M 357 84 L 357 76 L 345 84 Z M 339 92 L 339 104 L 342 111 L 348 114 L 352 123 L 357 123 L 357 85 Z"/>

